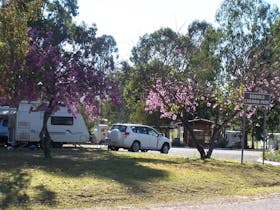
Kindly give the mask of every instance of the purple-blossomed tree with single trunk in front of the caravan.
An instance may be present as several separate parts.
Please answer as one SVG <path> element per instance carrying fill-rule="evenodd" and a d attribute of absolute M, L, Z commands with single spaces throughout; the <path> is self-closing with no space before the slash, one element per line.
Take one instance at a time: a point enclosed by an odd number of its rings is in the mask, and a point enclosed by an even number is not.
<path fill-rule="evenodd" d="M 19 102 L 42 101 L 40 110 L 44 110 L 43 127 L 40 132 L 41 144 L 46 158 L 50 158 L 50 135 L 47 121 L 52 113 L 64 103 L 75 117 L 77 108 L 83 106 L 93 120 L 98 114 L 100 100 L 110 98 L 119 103 L 116 84 L 103 70 L 87 62 L 81 51 L 66 51 L 63 45 L 52 44 L 53 33 L 36 29 L 30 31 L 31 48 L 22 68 L 18 91 Z"/>

